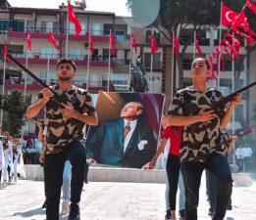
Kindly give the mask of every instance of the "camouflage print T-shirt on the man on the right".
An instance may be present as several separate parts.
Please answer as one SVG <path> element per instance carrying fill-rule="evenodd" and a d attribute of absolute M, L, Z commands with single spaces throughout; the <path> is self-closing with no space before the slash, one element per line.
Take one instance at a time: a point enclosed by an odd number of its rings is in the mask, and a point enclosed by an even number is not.
<path fill-rule="evenodd" d="M 200 109 L 210 108 L 222 97 L 221 92 L 213 88 L 199 92 L 187 87 L 177 92 L 168 114 L 195 115 Z M 223 154 L 220 121 L 224 110 L 216 110 L 216 114 L 217 117 L 211 121 L 183 126 L 179 152 L 181 162 L 205 162 L 210 154 Z"/>

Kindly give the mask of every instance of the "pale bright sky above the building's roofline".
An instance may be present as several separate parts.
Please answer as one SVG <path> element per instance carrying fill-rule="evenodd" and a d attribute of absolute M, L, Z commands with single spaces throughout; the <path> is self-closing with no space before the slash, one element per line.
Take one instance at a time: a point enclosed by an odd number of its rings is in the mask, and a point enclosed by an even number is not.
<path fill-rule="evenodd" d="M 8 0 L 13 7 L 59 8 L 67 0 Z M 74 0 L 71 1 L 73 5 Z M 130 16 L 126 6 L 127 0 L 86 0 L 87 10 L 114 12 L 117 16 Z"/>

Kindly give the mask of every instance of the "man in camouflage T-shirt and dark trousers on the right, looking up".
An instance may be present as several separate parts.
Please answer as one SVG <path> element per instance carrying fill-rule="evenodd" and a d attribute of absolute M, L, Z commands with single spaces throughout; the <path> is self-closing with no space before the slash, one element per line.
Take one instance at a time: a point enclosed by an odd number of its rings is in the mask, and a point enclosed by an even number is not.
<path fill-rule="evenodd" d="M 207 87 L 210 65 L 196 58 L 191 66 L 192 86 L 179 90 L 168 112 L 168 123 L 183 126 L 180 145 L 181 172 L 185 187 L 185 219 L 197 220 L 199 188 L 203 170 L 208 169 L 218 181 L 213 220 L 225 217 L 231 196 L 230 166 L 221 145 L 221 129 L 225 128 L 232 110 L 241 102 L 238 94 L 228 110 L 206 110 L 223 98 L 220 91 Z"/>

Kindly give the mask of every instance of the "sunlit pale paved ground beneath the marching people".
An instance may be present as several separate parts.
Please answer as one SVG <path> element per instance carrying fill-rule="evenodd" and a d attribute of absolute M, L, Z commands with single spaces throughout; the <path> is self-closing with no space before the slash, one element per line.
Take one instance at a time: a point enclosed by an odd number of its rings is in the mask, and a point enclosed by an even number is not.
<path fill-rule="evenodd" d="M 243 181 L 241 181 L 243 182 Z M 198 220 L 210 220 L 202 181 Z M 242 186 L 242 187 L 241 187 Z M 226 220 L 256 219 L 256 183 L 233 188 Z M 164 220 L 164 184 L 90 182 L 80 202 L 82 220 Z M 44 220 L 43 182 L 20 180 L 0 190 L 0 220 Z M 67 216 L 60 216 L 66 220 Z"/>

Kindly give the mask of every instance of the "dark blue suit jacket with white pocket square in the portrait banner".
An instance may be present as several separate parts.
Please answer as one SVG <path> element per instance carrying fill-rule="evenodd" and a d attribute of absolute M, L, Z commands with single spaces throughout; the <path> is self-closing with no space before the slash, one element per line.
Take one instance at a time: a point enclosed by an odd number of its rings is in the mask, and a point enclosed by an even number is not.
<path fill-rule="evenodd" d="M 140 148 L 140 141 L 147 144 Z M 156 152 L 153 132 L 139 120 L 130 137 L 124 153 L 124 119 L 108 120 L 96 127 L 86 140 L 86 157 L 94 158 L 98 163 L 115 166 L 141 168 L 150 161 Z"/>

